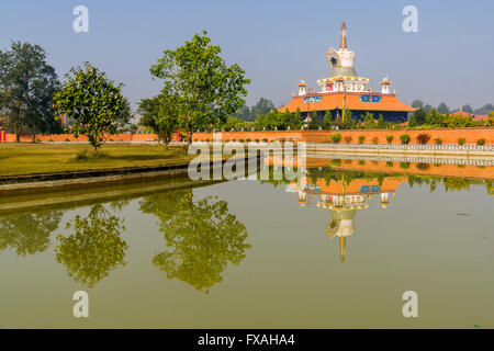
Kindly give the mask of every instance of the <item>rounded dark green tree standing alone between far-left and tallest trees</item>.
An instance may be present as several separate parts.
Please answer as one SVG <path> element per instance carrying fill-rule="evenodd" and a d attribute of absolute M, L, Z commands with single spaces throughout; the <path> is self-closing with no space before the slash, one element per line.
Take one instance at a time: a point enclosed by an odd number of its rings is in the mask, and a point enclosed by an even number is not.
<path fill-rule="evenodd" d="M 70 73 L 66 75 L 61 90 L 55 93 L 55 107 L 75 120 L 74 136 L 87 135 L 94 152 L 98 152 L 109 134 L 116 133 L 124 114 L 122 84 L 115 86 L 89 63 L 70 69 Z"/>

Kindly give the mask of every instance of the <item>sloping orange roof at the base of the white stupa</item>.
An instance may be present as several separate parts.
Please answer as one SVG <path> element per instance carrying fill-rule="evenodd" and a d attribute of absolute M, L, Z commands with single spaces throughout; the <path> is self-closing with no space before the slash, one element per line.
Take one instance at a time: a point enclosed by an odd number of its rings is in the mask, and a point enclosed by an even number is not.
<path fill-rule="evenodd" d="M 380 95 L 381 102 L 362 102 L 360 101 L 360 95 Z M 322 99 L 319 102 L 304 103 L 304 98 L 307 97 L 322 97 Z M 401 102 L 395 94 L 381 94 L 375 92 L 347 92 L 346 106 L 352 111 L 415 111 L 415 109 Z M 295 112 L 297 107 L 301 112 L 341 109 L 343 92 L 312 93 L 302 97 L 293 97 L 292 101 L 280 107 L 279 111 L 283 112 L 288 109 L 290 112 Z"/>

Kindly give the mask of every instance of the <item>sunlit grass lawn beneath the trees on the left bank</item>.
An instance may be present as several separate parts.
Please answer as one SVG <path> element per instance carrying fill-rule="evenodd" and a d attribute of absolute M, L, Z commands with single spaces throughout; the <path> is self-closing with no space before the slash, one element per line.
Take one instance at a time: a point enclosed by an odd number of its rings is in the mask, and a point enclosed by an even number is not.
<path fill-rule="evenodd" d="M 100 157 L 83 159 L 92 152 L 89 145 L 0 144 L 0 176 L 161 166 L 194 158 L 183 148 L 162 145 L 109 144 L 100 148 Z"/>

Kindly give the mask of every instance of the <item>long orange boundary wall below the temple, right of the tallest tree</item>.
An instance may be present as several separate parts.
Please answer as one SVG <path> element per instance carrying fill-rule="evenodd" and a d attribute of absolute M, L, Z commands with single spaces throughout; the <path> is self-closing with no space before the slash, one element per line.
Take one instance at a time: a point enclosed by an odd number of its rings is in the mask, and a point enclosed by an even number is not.
<path fill-rule="evenodd" d="M 346 136 L 351 136 L 350 143 L 357 144 L 360 135 L 366 136 L 364 143 L 371 144 L 374 137 L 378 137 L 378 144 L 388 144 L 386 136 L 393 135 L 392 144 L 401 144 L 400 136 L 402 134 L 408 134 L 411 137 L 411 144 L 417 144 L 416 137 L 419 134 L 430 135 L 428 144 L 435 144 L 435 138 L 440 138 L 442 144 L 458 144 L 459 138 L 465 138 L 465 144 L 476 144 L 476 140 L 484 138 L 486 144 L 494 144 L 494 128 L 437 128 L 437 129 L 409 129 L 409 131 L 388 131 L 388 129 L 348 129 L 348 131 L 267 131 L 267 132 L 222 132 L 222 139 L 236 140 L 249 138 L 251 141 L 259 139 L 280 140 L 280 139 L 293 139 L 296 141 L 308 143 L 330 143 L 330 136 L 333 134 L 341 134 L 341 144 L 345 143 Z M 217 135 L 217 136 L 216 136 Z M 216 133 L 215 138 L 220 137 L 220 133 Z M 211 133 L 194 133 L 192 135 L 193 140 L 212 140 L 213 135 Z"/>

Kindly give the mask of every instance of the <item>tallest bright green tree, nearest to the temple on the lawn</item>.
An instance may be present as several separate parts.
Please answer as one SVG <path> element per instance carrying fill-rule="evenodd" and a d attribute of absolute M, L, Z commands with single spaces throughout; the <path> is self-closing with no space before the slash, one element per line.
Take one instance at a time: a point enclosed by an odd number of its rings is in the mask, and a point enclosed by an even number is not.
<path fill-rule="evenodd" d="M 195 34 L 190 42 L 175 50 L 167 49 L 150 68 L 154 77 L 164 80 L 164 91 L 179 106 L 179 125 L 188 133 L 220 127 L 226 117 L 244 103 L 250 80 L 236 64 L 227 66 L 218 56 L 220 46 L 211 45 L 207 32 Z"/>

